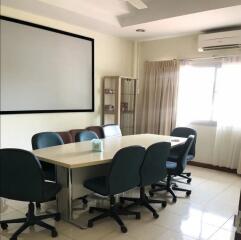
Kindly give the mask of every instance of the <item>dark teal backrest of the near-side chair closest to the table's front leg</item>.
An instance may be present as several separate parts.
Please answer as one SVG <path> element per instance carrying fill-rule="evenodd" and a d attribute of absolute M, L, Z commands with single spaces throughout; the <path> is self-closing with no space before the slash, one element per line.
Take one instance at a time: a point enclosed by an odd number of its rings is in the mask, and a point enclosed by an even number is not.
<path fill-rule="evenodd" d="M 130 190 L 140 184 L 140 167 L 145 148 L 130 146 L 120 149 L 111 162 L 107 184 L 110 195 Z"/>

